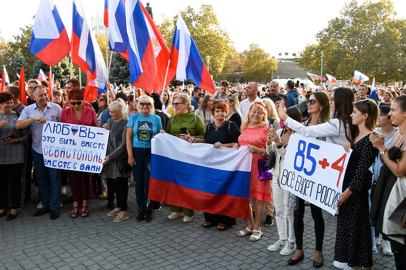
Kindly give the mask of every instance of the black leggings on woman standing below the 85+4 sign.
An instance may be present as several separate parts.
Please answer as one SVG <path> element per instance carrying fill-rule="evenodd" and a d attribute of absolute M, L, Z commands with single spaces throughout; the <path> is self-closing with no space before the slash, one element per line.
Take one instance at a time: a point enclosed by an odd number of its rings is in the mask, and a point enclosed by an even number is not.
<path fill-rule="evenodd" d="M 322 209 L 316 205 L 310 204 L 312 210 L 312 217 L 315 221 L 315 235 L 316 235 L 316 250 L 323 250 L 324 238 L 324 218 Z M 295 227 L 296 249 L 303 250 L 303 217 L 305 215 L 305 201 L 298 198 L 298 209 L 294 211 L 293 224 Z"/>

